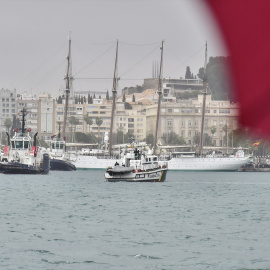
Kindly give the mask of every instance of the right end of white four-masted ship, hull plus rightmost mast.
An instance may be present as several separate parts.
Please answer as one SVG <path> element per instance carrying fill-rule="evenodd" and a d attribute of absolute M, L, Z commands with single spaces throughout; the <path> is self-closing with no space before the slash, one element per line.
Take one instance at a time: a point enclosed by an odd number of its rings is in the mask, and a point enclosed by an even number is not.
<path fill-rule="evenodd" d="M 202 120 L 200 144 L 198 153 L 172 153 L 168 167 L 170 170 L 176 171 L 237 171 L 244 164 L 249 162 L 249 157 L 246 157 L 243 150 L 238 150 L 235 155 L 218 156 L 216 154 L 203 153 L 203 136 L 205 122 L 205 100 L 207 95 L 207 42 L 205 44 L 205 61 L 204 61 L 204 78 L 203 78 L 203 103 L 202 103 Z"/>

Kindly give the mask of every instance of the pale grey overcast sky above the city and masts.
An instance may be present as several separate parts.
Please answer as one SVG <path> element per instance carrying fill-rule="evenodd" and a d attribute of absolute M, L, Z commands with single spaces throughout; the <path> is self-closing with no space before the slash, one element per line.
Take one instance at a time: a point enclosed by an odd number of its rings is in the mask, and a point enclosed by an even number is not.
<path fill-rule="evenodd" d="M 0 0 L 0 9 L 0 87 L 19 93 L 63 92 L 69 32 L 74 91 L 111 91 L 117 39 L 119 90 L 152 77 L 162 40 L 163 77 L 197 74 L 206 40 L 209 56 L 226 55 L 202 0 Z"/>

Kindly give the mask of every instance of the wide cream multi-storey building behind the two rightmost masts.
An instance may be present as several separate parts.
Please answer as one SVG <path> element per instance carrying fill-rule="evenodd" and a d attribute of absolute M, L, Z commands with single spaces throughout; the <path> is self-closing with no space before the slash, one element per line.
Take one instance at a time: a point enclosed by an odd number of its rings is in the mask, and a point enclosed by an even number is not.
<path fill-rule="evenodd" d="M 194 136 L 200 133 L 202 121 L 202 101 L 203 96 L 198 99 L 178 100 L 177 103 L 162 103 L 160 112 L 160 122 L 158 140 L 163 134 L 175 132 L 183 137 L 187 144 L 194 144 Z M 157 105 L 146 108 L 147 134 L 153 134 L 156 127 Z M 206 96 L 206 115 L 204 133 L 212 137 L 216 146 L 224 146 L 223 141 L 225 131 L 228 127 L 228 134 L 238 128 L 238 105 L 229 101 L 212 100 L 210 95 Z M 214 134 L 211 127 L 216 128 Z"/>

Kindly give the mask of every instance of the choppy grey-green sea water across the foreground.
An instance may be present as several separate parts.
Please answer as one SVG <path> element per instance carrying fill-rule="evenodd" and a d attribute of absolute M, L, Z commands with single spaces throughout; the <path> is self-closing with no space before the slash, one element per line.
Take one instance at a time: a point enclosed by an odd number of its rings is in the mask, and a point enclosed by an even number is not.
<path fill-rule="evenodd" d="M 270 269 L 270 174 L 0 175 L 0 269 Z"/>

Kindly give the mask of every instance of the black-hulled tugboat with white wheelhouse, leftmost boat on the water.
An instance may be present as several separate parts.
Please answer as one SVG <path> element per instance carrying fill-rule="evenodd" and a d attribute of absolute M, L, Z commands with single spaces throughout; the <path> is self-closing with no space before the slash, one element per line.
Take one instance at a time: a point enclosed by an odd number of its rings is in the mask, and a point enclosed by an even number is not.
<path fill-rule="evenodd" d="M 34 138 L 30 136 L 31 129 L 25 132 L 25 114 L 22 113 L 22 129 L 18 133 L 15 129 L 15 135 L 10 139 L 7 132 L 7 145 L 4 154 L 1 156 L 0 173 L 3 174 L 48 174 L 50 170 L 50 158 L 47 153 L 42 153 L 41 148 L 37 146 L 37 134 Z"/>

